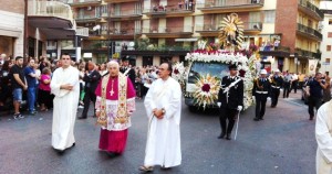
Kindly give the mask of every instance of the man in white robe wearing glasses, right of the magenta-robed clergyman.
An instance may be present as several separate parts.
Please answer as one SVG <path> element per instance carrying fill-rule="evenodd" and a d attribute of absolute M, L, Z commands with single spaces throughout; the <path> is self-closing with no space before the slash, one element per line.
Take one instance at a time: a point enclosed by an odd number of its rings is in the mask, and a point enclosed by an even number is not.
<path fill-rule="evenodd" d="M 148 134 L 144 165 L 141 171 L 153 171 L 154 165 L 164 168 L 180 165 L 180 85 L 170 77 L 172 64 L 159 66 L 159 78 L 155 80 L 145 97 L 148 117 Z"/>

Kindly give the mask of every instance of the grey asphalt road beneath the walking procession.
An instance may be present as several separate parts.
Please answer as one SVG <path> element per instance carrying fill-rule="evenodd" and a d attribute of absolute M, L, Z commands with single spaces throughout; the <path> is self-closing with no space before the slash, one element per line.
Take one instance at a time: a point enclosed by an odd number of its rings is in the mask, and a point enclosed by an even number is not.
<path fill-rule="evenodd" d="M 256 122 L 255 107 L 239 122 L 237 140 L 219 140 L 218 110 L 189 112 L 183 104 L 183 164 L 176 174 L 313 174 L 315 173 L 314 121 L 309 121 L 300 94 L 280 98 L 267 107 L 263 121 Z M 268 102 L 267 106 L 270 104 Z M 126 151 L 110 159 L 98 151 L 100 128 L 95 119 L 76 120 L 76 146 L 59 155 L 51 148 L 52 111 L 22 120 L 1 116 L 0 173 L 6 174 L 135 174 L 143 164 L 147 117 L 143 100 L 136 100 Z M 79 110 L 80 116 L 82 109 Z"/>

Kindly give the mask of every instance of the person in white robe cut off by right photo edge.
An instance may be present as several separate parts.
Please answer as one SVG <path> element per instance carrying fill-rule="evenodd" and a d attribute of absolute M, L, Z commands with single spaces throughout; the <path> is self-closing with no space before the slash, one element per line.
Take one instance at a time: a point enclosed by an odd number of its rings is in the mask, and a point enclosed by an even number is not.
<path fill-rule="evenodd" d="M 318 142 L 317 174 L 332 174 L 332 100 L 318 110 L 315 139 Z"/>

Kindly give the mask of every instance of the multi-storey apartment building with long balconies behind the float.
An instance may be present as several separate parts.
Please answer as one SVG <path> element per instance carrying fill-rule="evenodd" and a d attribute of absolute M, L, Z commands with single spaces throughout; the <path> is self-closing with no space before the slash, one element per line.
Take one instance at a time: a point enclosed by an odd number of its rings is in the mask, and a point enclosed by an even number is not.
<path fill-rule="evenodd" d="M 77 25 L 90 28 L 83 53 L 96 62 L 129 55 L 133 63 L 184 61 L 198 39 L 218 42 L 219 23 L 245 22 L 243 47 L 256 45 L 267 69 L 308 72 L 320 58 L 319 0 L 70 0 Z M 107 46 L 113 48 L 107 50 Z M 111 53 L 110 53 L 111 52 Z M 89 54 L 91 55 L 91 54 Z"/>

